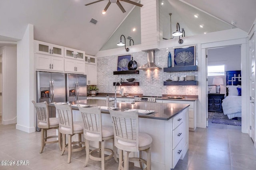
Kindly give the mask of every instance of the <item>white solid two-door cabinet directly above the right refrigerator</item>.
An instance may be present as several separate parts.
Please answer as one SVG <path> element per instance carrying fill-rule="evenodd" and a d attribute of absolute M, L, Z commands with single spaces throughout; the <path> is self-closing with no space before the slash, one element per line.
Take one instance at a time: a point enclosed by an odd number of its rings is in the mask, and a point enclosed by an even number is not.
<path fill-rule="evenodd" d="M 84 61 L 65 59 L 65 71 L 74 73 L 85 73 Z"/>

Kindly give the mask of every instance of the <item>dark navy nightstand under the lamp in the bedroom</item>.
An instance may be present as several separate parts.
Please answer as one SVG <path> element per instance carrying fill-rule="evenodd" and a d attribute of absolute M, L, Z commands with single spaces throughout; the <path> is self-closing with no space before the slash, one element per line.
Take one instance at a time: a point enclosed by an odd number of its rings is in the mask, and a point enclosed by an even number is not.
<path fill-rule="evenodd" d="M 222 100 L 225 94 L 208 94 L 208 111 L 223 112 Z"/>

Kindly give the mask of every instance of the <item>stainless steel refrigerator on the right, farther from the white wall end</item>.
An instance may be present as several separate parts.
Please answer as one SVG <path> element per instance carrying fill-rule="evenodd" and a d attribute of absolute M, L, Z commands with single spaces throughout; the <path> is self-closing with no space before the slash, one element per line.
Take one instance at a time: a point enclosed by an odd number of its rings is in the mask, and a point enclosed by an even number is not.
<path fill-rule="evenodd" d="M 86 99 L 86 75 L 66 74 L 66 94 L 68 102 Z"/>

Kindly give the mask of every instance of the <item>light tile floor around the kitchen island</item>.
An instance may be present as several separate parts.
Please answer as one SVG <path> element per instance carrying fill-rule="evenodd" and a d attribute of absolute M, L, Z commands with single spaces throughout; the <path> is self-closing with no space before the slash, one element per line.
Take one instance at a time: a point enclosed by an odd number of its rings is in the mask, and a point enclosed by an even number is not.
<path fill-rule="evenodd" d="M 189 150 L 174 170 L 255 170 L 256 149 L 248 134 L 241 133 L 240 126 L 211 123 L 212 116 L 209 115 L 209 127 L 189 132 Z M 46 145 L 41 154 L 39 150 L 40 132 L 25 133 L 16 130 L 14 124 L 0 123 L 0 160 L 29 161 L 28 166 L 0 166 L 0 170 L 101 169 L 100 162 L 92 160 L 83 167 L 84 150 L 74 152 L 70 164 L 66 163 L 67 153 L 61 156 L 57 144 Z M 106 161 L 106 170 L 117 168 L 114 159 Z M 131 166 L 130 169 L 140 168 Z"/>

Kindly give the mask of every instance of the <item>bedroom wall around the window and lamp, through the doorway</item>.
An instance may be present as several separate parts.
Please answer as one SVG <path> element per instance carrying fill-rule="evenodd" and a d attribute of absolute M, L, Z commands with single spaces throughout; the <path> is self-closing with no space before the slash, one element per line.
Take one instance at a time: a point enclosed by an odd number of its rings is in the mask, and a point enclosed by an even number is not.
<path fill-rule="evenodd" d="M 208 66 L 220 64 L 225 64 L 225 71 L 241 70 L 241 46 L 208 49 Z M 226 76 L 208 76 L 208 85 L 212 85 L 214 77 L 223 78 L 220 93 L 226 94 Z"/>

